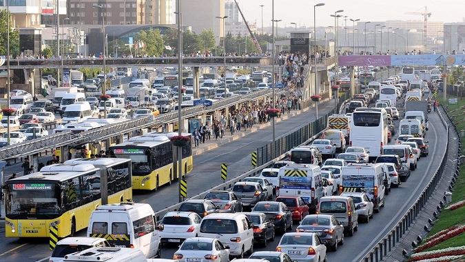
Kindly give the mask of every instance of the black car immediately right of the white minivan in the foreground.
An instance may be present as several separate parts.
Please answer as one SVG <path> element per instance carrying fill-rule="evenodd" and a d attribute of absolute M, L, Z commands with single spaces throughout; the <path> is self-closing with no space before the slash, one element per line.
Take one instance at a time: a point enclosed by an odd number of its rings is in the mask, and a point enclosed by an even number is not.
<path fill-rule="evenodd" d="M 251 223 L 254 224 L 254 241 L 267 246 L 269 240 L 274 240 L 275 230 L 273 222 L 269 221 L 268 216 L 264 213 L 244 212 Z"/>

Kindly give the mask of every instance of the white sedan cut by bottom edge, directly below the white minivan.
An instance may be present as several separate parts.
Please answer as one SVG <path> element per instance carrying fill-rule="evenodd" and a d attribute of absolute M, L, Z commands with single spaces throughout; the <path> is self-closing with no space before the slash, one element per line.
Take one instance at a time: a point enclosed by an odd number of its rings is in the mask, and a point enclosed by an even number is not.
<path fill-rule="evenodd" d="M 174 253 L 179 262 L 229 262 L 229 246 L 218 239 L 192 237 Z"/>

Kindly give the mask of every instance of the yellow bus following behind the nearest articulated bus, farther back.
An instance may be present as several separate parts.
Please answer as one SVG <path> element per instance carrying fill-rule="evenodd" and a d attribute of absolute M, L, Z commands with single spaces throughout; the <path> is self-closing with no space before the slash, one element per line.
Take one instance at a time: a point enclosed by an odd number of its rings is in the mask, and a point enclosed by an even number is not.
<path fill-rule="evenodd" d="M 157 190 L 161 185 L 171 185 L 178 179 L 173 159 L 176 157 L 170 137 L 178 133 L 147 133 L 110 147 L 112 157 L 132 160 L 132 189 Z M 183 174 L 192 171 L 192 134 L 183 133 L 191 140 L 183 145 Z"/>

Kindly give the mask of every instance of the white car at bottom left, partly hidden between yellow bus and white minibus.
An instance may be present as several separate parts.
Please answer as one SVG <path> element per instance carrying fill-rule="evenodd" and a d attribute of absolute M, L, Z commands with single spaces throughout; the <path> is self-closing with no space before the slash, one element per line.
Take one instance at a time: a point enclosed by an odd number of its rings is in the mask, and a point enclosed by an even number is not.
<path fill-rule="evenodd" d="M 52 251 L 52 256 L 48 259 L 49 262 L 61 262 L 65 259 L 65 255 L 74 252 L 81 252 L 88 248 L 103 248 L 110 247 L 110 243 L 101 237 L 86 237 L 74 236 L 61 239 L 56 243 Z"/>

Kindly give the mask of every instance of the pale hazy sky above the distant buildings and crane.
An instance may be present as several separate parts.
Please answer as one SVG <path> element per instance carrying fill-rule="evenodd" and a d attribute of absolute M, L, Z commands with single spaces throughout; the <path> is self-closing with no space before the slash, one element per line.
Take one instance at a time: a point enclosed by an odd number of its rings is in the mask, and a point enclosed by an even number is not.
<path fill-rule="evenodd" d="M 257 28 L 271 26 L 271 1 L 272 0 L 237 0 L 247 21 L 257 22 Z M 431 12 L 430 21 L 444 21 L 445 23 L 462 22 L 465 13 L 462 10 L 463 0 L 274 0 L 274 19 L 282 19 L 278 26 L 313 26 L 313 6 L 324 3 L 324 6 L 316 7 L 316 25 L 333 26 L 334 14 L 337 10 L 347 16 L 347 25 L 352 22 L 349 19 L 360 21 L 386 21 L 386 20 L 423 20 L 421 14 L 405 14 L 405 12 L 424 12 L 424 7 Z M 240 20 L 241 21 L 241 20 Z M 343 18 L 339 19 L 341 25 Z"/>

